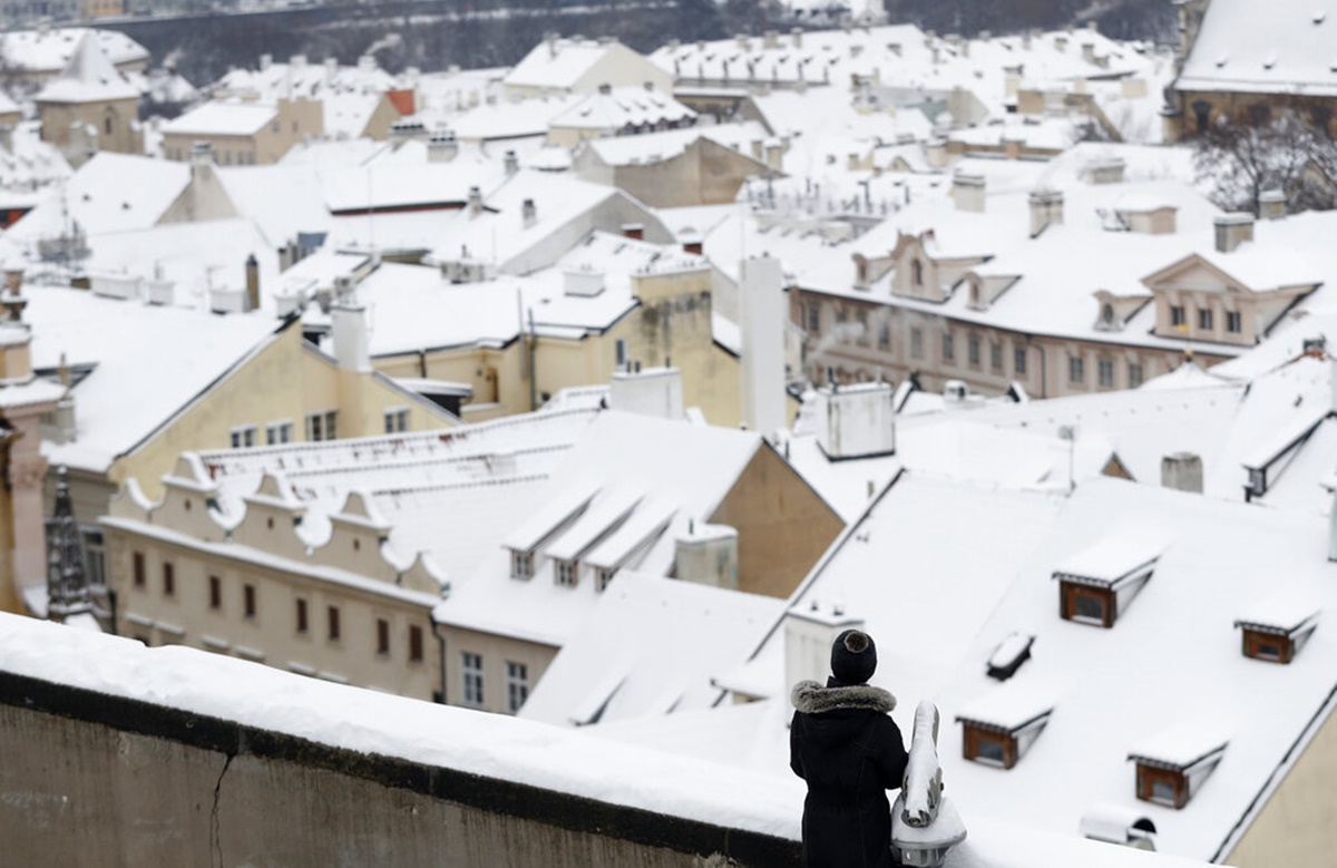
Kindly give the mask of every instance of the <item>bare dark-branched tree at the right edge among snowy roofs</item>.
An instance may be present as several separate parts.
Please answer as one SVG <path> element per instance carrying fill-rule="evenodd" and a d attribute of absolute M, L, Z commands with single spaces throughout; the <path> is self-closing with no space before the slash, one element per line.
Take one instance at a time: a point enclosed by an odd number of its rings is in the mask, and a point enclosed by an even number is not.
<path fill-rule="evenodd" d="M 1213 185 L 1211 201 L 1227 211 L 1257 214 L 1267 190 L 1285 194 L 1289 213 L 1337 203 L 1337 142 L 1292 108 L 1262 123 L 1211 124 L 1197 139 L 1194 165 L 1198 179 Z"/>

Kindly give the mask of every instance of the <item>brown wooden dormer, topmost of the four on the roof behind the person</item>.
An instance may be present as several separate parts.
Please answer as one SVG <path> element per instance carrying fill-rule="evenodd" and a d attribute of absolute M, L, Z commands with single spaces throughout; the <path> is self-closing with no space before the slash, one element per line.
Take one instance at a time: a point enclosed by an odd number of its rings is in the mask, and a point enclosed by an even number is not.
<path fill-rule="evenodd" d="M 1112 532 L 1059 564 L 1059 617 L 1112 627 L 1155 571 L 1163 540 Z"/>

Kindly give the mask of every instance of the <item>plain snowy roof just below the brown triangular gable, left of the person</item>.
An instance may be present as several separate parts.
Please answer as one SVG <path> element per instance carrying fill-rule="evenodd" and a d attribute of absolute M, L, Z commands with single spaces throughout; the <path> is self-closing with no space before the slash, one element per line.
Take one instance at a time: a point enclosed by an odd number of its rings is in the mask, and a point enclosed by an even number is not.
<path fill-rule="evenodd" d="M 782 606 L 623 570 L 548 665 L 520 717 L 571 726 L 595 716 L 607 722 L 710 708 L 721 694 L 710 675 L 738 663 Z"/>

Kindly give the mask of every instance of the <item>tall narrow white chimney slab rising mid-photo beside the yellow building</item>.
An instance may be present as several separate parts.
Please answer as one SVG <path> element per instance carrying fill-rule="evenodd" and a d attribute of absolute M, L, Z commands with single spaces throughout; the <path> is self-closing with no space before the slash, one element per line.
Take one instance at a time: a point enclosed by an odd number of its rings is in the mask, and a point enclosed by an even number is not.
<path fill-rule="evenodd" d="M 785 292 L 779 259 L 753 257 L 739 269 L 738 293 L 743 357 L 742 420 L 771 436 L 785 420 Z"/>

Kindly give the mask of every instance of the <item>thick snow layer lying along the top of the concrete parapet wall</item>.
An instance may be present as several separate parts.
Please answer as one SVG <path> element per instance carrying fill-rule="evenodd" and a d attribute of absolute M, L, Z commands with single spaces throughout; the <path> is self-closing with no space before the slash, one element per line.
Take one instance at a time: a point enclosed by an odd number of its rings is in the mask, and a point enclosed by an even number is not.
<path fill-rule="evenodd" d="M 794 841 L 797 853 L 804 784 L 789 776 L 787 768 L 785 777 L 777 778 L 611 744 L 587 732 L 507 716 L 483 717 L 468 709 L 330 683 L 195 649 L 150 649 L 132 639 L 67 630 L 8 614 L 0 614 L 0 621 L 5 674 L 44 682 L 56 690 L 128 699 L 142 703 L 150 714 L 158 709 L 185 712 L 254 728 L 277 738 L 299 738 L 301 744 L 333 749 L 336 753 L 330 756 L 350 752 L 350 758 L 352 754 L 390 757 L 424 770 L 451 769 L 547 794 L 598 800 L 611 810 L 626 806 L 715 829 L 778 836 Z M 115 706 L 96 705 L 99 712 Z M 354 774 L 352 768 L 332 770 Z M 967 823 L 969 837 L 953 859 L 975 868 L 1201 865 L 1084 841 L 1071 832 L 1047 835 L 1000 824 L 987 816 L 967 815 Z M 694 837 L 685 848 L 695 847 L 697 841 Z"/>

